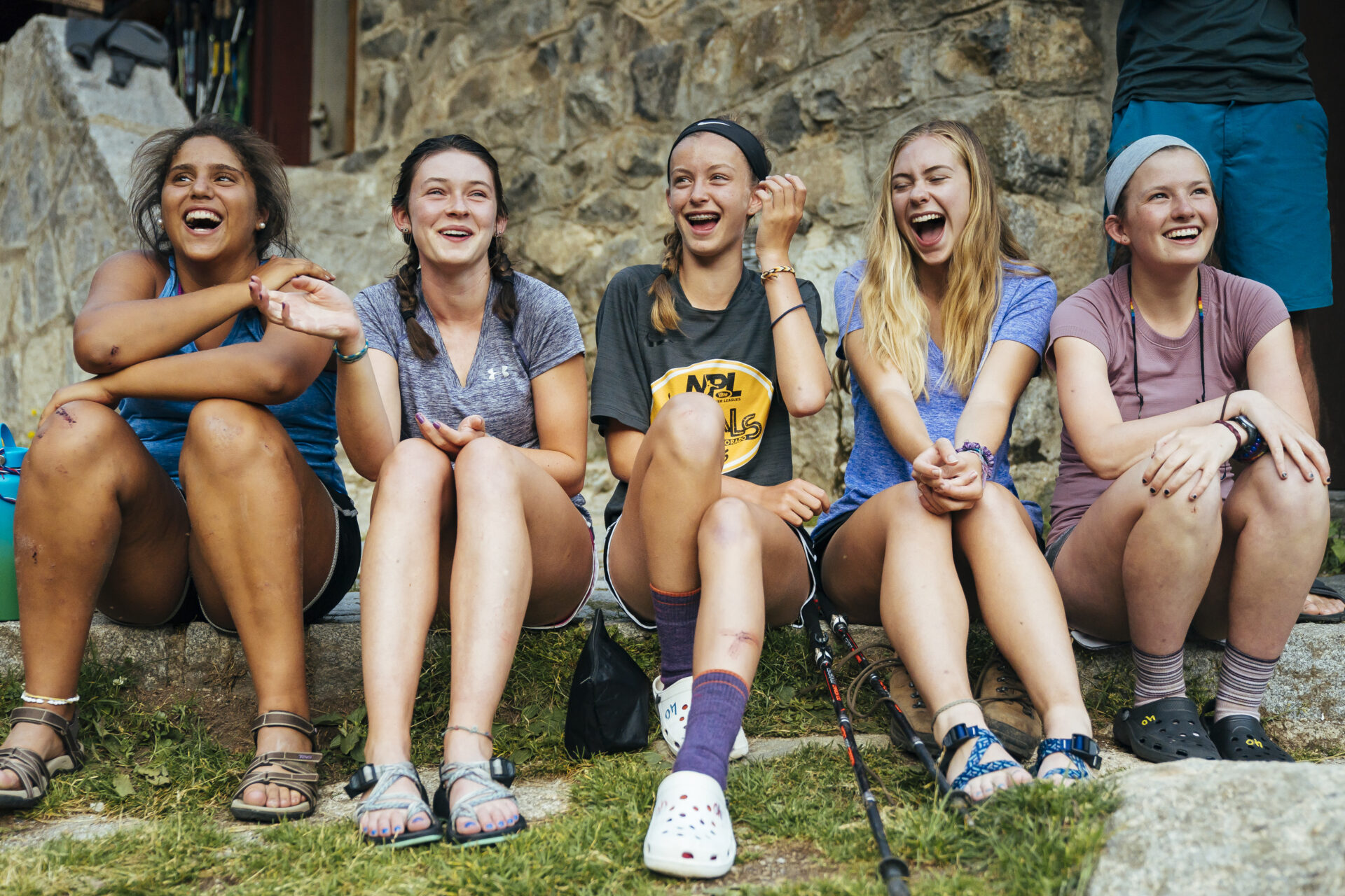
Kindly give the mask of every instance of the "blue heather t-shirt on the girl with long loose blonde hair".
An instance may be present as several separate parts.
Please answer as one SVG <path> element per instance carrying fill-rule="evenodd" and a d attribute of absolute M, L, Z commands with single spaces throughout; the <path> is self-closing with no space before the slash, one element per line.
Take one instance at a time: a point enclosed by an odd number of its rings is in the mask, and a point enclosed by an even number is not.
<path fill-rule="evenodd" d="M 837 321 L 841 325 L 839 343 L 837 344 L 838 357 L 845 357 L 845 337 L 863 329 L 861 309 L 855 302 L 859 281 L 863 278 L 863 266 L 865 262 L 855 262 L 837 278 Z M 1046 337 L 1050 333 L 1050 314 L 1054 310 L 1056 285 L 1049 277 L 1026 277 L 1025 269 L 1006 266 L 999 310 L 990 325 L 990 340 L 981 356 L 981 363 L 985 364 L 990 347 L 1001 340 L 1022 343 L 1040 356 L 1046 347 Z M 920 411 L 920 419 L 924 420 L 931 439 L 952 441 L 962 411 L 967 407 L 967 400 L 958 392 L 956 386 L 942 383 L 942 379 L 943 352 L 933 344 L 933 340 L 929 340 L 929 361 L 925 371 L 929 395 L 916 399 L 916 408 Z M 877 411 L 869 404 L 869 399 L 859 388 L 859 380 L 853 371 L 850 372 L 850 396 L 854 403 L 854 449 L 850 451 L 850 462 L 845 470 L 845 494 L 818 520 L 819 527 L 833 517 L 858 509 L 861 504 L 878 492 L 901 482 L 909 482 L 912 478 L 911 462 L 892 447 L 886 433 L 882 431 Z M 1005 430 L 1003 441 L 999 442 L 999 450 L 995 454 L 995 472 L 990 478 L 1017 496 L 1018 490 L 1009 474 L 1010 433 L 1013 433 L 1013 414 L 1009 415 L 1009 427 Z M 1040 535 L 1041 508 L 1034 501 L 1024 501 L 1022 504 Z"/>

